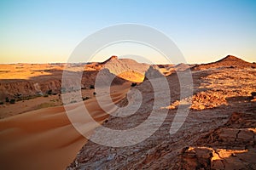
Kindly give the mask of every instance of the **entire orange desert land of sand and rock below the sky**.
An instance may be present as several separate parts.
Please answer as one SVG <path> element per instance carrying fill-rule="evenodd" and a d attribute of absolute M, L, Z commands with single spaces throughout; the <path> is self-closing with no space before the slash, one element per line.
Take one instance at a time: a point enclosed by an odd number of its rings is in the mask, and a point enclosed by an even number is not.
<path fill-rule="evenodd" d="M 79 88 L 61 86 L 64 70 L 71 75 L 82 73 Z M 97 100 L 106 98 L 95 87 L 101 71 L 103 81 L 114 77 L 109 87 L 114 106 L 106 103 L 108 111 Z M 188 72 L 193 83 L 183 87 L 179 75 Z M 147 78 L 152 75 L 164 77 L 169 90 L 164 91 L 161 82 L 153 87 Z M 70 82 L 73 78 L 67 77 Z M 201 65 L 148 65 L 117 56 L 92 63 L 0 65 L 0 167 L 256 169 L 255 82 L 256 64 L 232 55 Z M 184 96 L 181 87 L 192 94 Z M 120 117 L 110 113 L 137 106 L 133 97 L 137 91 L 142 103 L 134 114 Z M 68 102 L 63 103 L 63 95 Z M 157 107 L 156 100 L 162 101 Z M 164 101 L 168 101 L 167 105 Z M 85 105 L 98 124 L 90 119 L 84 122 L 83 117 L 76 117 L 76 123 L 91 138 L 102 132 L 102 126 L 115 130 L 137 127 L 151 111 L 166 112 L 167 116 L 147 139 L 112 147 L 84 138 L 73 126 L 64 105 L 76 112 L 82 112 Z M 170 133 L 177 111 L 184 106 L 189 112 L 182 126 Z M 154 127 L 154 123 L 150 126 Z M 112 140 L 107 137 L 109 144 Z"/>

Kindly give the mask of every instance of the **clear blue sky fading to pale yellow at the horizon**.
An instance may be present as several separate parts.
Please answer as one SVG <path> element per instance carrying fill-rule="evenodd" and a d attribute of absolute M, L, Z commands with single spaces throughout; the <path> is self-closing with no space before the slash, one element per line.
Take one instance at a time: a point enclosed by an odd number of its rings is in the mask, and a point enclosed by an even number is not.
<path fill-rule="evenodd" d="M 84 38 L 123 23 L 163 32 L 187 63 L 212 62 L 228 54 L 256 61 L 253 0 L 0 0 L 0 63 L 67 62 Z M 147 50 L 135 46 L 103 49 L 95 59 L 137 54 L 132 48 Z M 154 52 L 150 59 L 166 62 Z"/>

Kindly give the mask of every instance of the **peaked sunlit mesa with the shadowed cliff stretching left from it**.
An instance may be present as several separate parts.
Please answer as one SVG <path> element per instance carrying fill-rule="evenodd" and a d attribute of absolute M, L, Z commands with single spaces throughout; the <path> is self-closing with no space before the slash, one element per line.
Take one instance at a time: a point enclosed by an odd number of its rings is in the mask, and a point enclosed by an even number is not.
<path fill-rule="evenodd" d="M 57 65 L 58 66 L 58 65 Z M 0 101 L 3 101 L 6 97 L 9 99 L 15 98 L 15 96 L 21 96 L 26 98 L 29 96 L 40 96 L 47 94 L 49 90 L 53 94 L 61 93 L 61 79 L 62 71 L 65 69 L 69 71 L 70 88 L 75 88 L 72 83 L 73 77 L 79 75 L 81 71 L 82 82 L 79 86 L 81 88 L 90 88 L 91 85 L 95 84 L 96 76 L 99 71 L 107 69 L 109 74 L 118 76 L 114 79 L 113 85 L 122 84 L 126 81 L 131 81 L 137 78 L 137 82 L 142 82 L 145 71 L 148 70 L 149 65 L 137 63 L 133 59 L 118 59 L 116 56 L 112 56 L 102 63 L 90 63 L 90 64 L 67 64 L 64 67 L 60 64 L 59 67 L 53 67 L 52 65 L 46 65 L 45 69 L 39 68 L 40 70 L 35 70 L 33 65 L 29 74 L 32 73 L 44 73 L 44 76 L 29 77 L 27 79 L 1 79 L 0 78 Z M 24 65 L 20 68 L 24 69 Z M 22 71 L 22 70 L 20 70 Z M 126 72 L 124 72 L 126 71 Z M 33 75 L 33 74 L 32 74 Z M 125 80 L 126 79 L 126 80 Z M 67 91 L 68 89 L 64 89 Z"/>

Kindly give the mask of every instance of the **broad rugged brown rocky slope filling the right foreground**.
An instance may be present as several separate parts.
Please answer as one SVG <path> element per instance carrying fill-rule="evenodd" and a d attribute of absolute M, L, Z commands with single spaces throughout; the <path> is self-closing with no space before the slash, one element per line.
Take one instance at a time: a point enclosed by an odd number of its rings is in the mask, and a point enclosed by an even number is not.
<path fill-rule="evenodd" d="M 194 94 L 187 98 L 192 100 L 192 110 L 177 133 L 170 134 L 169 130 L 177 108 L 186 102 L 167 108 L 165 122 L 143 142 L 113 148 L 89 141 L 67 169 L 255 169 L 256 71 L 251 65 L 233 66 L 192 71 Z M 177 74 L 166 78 L 171 105 L 182 101 Z M 127 129 L 148 118 L 154 90 L 148 80 L 136 89 L 143 94 L 140 109 L 127 117 L 110 116 L 103 126 Z"/>

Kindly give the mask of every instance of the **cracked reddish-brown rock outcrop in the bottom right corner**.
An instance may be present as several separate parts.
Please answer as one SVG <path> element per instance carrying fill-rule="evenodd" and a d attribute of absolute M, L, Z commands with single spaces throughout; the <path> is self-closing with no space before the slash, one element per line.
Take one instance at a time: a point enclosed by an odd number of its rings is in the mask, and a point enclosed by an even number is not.
<path fill-rule="evenodd" d="M 256 115 L 233 113 L 230 120 L 182 150 L 181 169 L 255 169 Z"/>

